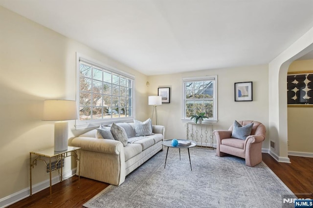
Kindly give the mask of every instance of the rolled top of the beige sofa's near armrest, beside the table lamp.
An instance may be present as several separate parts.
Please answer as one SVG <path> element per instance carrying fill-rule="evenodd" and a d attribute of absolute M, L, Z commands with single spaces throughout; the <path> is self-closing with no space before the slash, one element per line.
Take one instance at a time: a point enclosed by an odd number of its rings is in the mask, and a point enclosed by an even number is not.
<path fill-rule="evenodd" d="M 97 139 L 91 137 L 76 137 L 72 146 L 81 147 L 83 150 L 119 155 L 123 144 L 116 140 Z"/>

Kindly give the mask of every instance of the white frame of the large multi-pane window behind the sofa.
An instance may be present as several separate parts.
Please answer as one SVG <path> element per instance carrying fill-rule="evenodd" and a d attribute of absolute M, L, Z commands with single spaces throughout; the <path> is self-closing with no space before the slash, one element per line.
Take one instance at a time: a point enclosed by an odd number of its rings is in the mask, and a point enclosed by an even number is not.
<path fill-rule="evenodd" d="M 134 121 L 134 115 L 135 115 L 135 76 L 132 74 L 129 74 L 127 72 L 118 70 L 116 68 L 113 68 L 112 66 L 109 66 L 107 64 L 101 63 L 99 61 L 93 60 L 85 55 L 82 55 L 80 53 L 76 53 L 76 102 L 77 102 L 77 110 L 79 115 L 79 107 L 80 107 L 80 61 L 91 64 L 97 68 L 103 69 L 105 71 L 111 72 L 112 74 L 122 76 L 125 78 L 128 78 L 133 81 L 132 86 L 132 114 L 129 117 L 119 117 L 119 118 L 111 118 L 111 119 L 96 119 L 96 120 L 85 120 L 81 121 L 79 119 L 76 120 L 75 127 L 76 129 L 84 129 L 89 127 L 98 127 L 100 124 L 102 125 L 109 125 L 112 124 L 112 122 L 118 123 L 118 122 L 133 122 Z"/>

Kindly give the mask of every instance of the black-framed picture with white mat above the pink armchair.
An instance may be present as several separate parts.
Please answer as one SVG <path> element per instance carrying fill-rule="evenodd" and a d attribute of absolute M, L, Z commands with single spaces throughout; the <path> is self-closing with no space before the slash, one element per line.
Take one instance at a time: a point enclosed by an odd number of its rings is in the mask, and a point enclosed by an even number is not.
<path fill-rule="evenodd" d="M 235 101 L 252 101 L 252 82 L 235 83 Z"/>

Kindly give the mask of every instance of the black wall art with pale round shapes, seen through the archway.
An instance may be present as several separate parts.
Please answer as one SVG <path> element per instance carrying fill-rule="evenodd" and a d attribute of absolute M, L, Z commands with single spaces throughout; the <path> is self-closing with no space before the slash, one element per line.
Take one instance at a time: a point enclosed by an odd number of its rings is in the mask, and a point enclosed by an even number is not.
<path fill-rule="evenodd" d="M 287 104 L 288 107 L 313 107 L 313 71 L 288 73 Z"/>

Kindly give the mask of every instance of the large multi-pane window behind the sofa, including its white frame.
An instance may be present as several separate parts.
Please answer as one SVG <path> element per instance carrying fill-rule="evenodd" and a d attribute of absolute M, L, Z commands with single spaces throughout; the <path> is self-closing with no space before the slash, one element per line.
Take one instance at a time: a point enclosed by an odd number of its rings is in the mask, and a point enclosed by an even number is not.
<path fill-rule="evenodd" d="M 76 126 L 91 127 L 100 123 L 133 120 L 132 75 L 82 57 L 78 57 L 77 71 L 79 118 Z"/>

